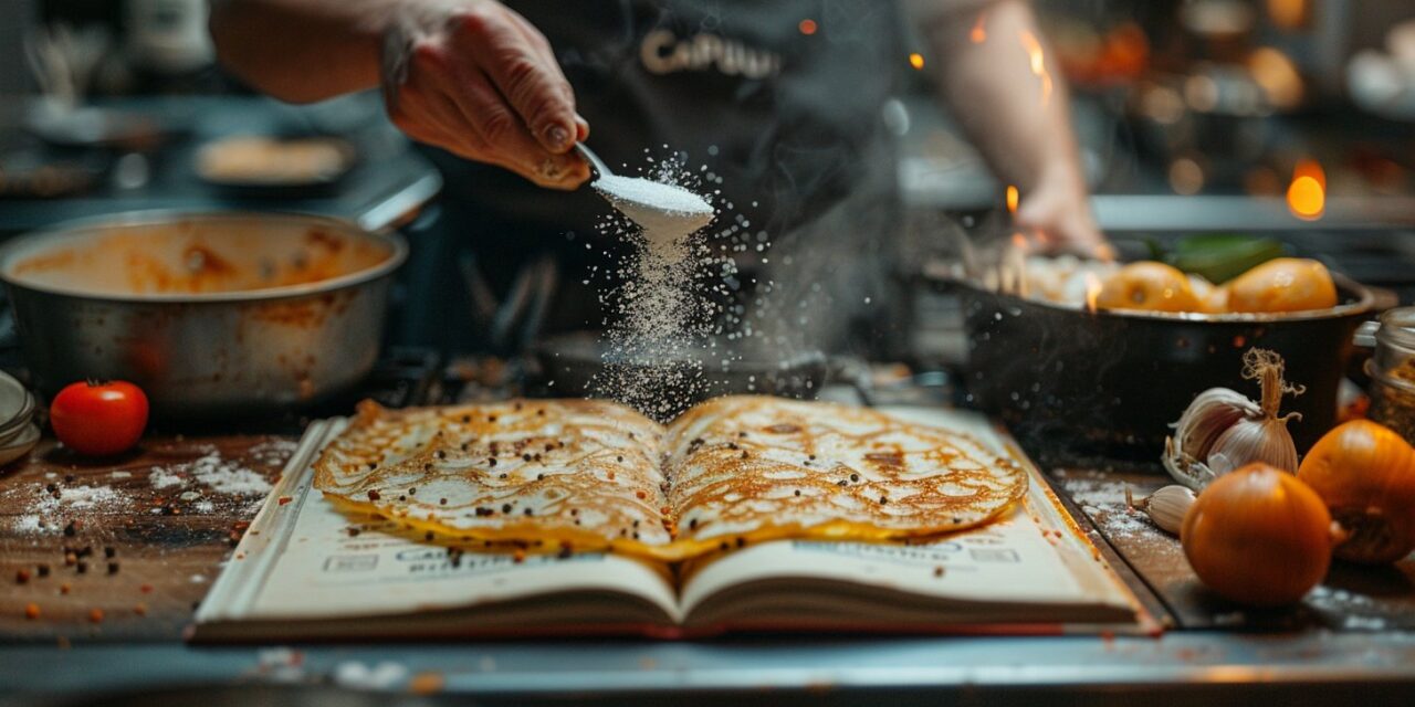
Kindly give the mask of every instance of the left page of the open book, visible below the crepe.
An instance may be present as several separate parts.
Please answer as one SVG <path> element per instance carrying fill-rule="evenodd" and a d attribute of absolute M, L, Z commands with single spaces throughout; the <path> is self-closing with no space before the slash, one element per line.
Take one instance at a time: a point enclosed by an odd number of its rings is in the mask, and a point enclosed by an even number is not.
<path fill-rule="evenodd" d="M 289 469 L 287 469 L 289 471 Z M 666 568 L 604 553 L 449 553 L 400 534 L 396 523 L 348 515 L 311 488 L 310 467 L 282 479 L 232 563 L 263 564 L 243 574 L 255 591 L 214 591 L 225 605 L 202 607 L 198 622 L 321 619 L 467 609 L 543 594 L 624 594 L 678 621 Z M 266 533 L 260 537 L 253 533 Z M 242 570 L 238 567 L 229 570 Z M 225 578 L 225 575 L 224 575 Z"/>

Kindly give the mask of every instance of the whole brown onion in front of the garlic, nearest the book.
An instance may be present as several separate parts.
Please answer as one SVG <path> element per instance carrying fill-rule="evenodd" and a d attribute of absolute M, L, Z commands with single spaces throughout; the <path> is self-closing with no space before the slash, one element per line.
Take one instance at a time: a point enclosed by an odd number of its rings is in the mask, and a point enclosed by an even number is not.
<path fill-rule="evenodd" d="M 1252 462 L 1215 479 L 1184 515 L 1180 543 L 1214 592 L 1249 607 L 1300 600 L 1332 563 L 1332 516 L 1292 474 Z"/>

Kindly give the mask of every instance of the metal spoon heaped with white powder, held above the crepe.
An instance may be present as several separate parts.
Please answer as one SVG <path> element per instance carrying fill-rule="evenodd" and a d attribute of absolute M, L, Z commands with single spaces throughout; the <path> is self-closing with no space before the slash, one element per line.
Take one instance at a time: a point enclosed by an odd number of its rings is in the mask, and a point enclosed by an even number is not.
<path fill-rule="evenodd" d="M 708 199 L 672 184 L 620 177 L 584 143 L 576 143 L 574 148 L 594 173 L 590 187 L 642 226 L 649 242 L 678 240 L 712 222 L 713 211 Z"/>

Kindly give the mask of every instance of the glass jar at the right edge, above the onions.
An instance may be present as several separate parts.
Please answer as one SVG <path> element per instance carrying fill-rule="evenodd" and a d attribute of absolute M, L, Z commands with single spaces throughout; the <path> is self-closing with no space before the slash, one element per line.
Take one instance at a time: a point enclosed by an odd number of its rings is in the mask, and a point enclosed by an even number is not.
<path fill-rule="evenodd" d="M 1415 444 L 1415 307 L 1382 314 L 1374 345 L 1375 351 L 1365 362 L 1365 372 L 1371 376 L 1367 417 Z"/>

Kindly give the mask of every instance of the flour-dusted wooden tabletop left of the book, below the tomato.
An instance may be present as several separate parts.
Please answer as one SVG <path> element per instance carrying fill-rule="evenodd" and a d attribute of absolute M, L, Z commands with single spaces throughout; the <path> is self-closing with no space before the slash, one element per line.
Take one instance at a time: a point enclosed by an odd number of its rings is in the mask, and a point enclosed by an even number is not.
<path fill-rule="evenodd" d="M 0 638 L 178 641 L 294 445 L 150 437 L 93 462 L 45 438 L 0 471 Z"/>

